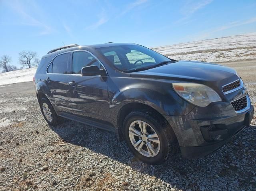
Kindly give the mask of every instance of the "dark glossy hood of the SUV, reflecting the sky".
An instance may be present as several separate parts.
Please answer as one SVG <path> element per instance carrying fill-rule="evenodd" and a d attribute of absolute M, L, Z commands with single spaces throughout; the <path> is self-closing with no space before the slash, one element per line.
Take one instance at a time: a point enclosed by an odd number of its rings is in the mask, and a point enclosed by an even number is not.
<path fill-rule="evenodd" d="M 227 84 L 229 81 L 238 79 L 237 72 L 218 64 L 178 61 L 156 68 L 138 71 L 130 74 L 131 77 L 142 77 L 152 79 L 167 79 L 174 81 L 194 81 L 208 83 Z"/>

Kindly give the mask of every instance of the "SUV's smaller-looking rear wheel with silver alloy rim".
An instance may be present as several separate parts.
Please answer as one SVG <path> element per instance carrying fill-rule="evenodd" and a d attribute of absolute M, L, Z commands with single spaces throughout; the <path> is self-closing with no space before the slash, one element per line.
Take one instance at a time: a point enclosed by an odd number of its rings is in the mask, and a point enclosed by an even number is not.
<path fill-rule="evenodd" d="M 47 106 L 46 106 L 47 105 Z M 40 108 L 41 108 L 41 112 L 44 116 L 44 119 L 46 120 L 46 122 L 49 124 L 49 125 L 52 125 L 52 126 L 55 126 L 59 123 L 59 119 L 58 119 L 58 116 L 54 110 L 54 108 L 52 107 L 52 104 L 49 102 L 49 100 L 47 98 L 42 98 L 40 100 Z M 44 109 L 50 109 L 48 110 L 48 113 L 50 112 L 51 113 L 51 118 L 49 118 L 45 112 L 44 112 Z"/>

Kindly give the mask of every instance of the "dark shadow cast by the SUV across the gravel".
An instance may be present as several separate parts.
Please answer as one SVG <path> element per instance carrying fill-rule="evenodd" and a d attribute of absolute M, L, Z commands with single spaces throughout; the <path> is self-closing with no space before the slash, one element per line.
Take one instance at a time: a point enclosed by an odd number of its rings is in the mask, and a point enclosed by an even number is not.
<path fill-rule="evenodd" d="M 220 150 L 205 158 L 186 160 L 180 153 L 177 153 L 160 165 L 148 165 L 135 159 L 126 143 L 119 142 L 113 132 L 71 120 L 65 120 L 61 125 L 49 127 L 64 142 L 88 148 L 129 165 L 135 171 L 159 178 L 170 187 L 182 190 L 214 190 L 214 188 L 228 190 L 228 187 L 236 187 L 247 190 L 252 186 L 251 167 L 248 163 L 254 154 L 248 152 L 248 149 L 255 148 L 256 142 L 244 144 L 242 137 L 255 137 L 256 126 L 250 126 L 254 128 L 254 131 L 250 133 L 247 130 L 242 131 Z"/>

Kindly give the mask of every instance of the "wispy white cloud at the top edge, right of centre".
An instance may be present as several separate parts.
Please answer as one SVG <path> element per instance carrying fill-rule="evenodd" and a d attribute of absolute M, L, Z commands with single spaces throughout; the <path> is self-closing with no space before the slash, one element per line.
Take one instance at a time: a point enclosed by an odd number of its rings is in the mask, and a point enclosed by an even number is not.
<path fill-rule="evenodd" d="M 195 12 L 212 3 L 213 0 L 189 1 L 182 6 L 180 12 L 184 17 L 176 21 L 175 24 L 181 23 L 190 18 Z"/>

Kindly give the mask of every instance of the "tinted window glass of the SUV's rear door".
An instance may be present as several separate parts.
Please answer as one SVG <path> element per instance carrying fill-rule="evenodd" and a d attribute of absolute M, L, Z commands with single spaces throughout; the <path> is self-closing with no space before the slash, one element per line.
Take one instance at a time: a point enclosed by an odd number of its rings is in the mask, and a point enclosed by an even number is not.
<path fill-rule="evenodd" d="M 68 73 L 68 58 L 70 53 L 58 55 L 52 61 L 52 73 L 67 74 Z M 50 72 L 49 72 L 50 73 Z"/>

